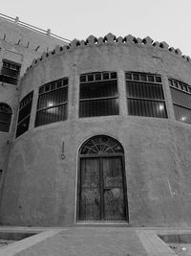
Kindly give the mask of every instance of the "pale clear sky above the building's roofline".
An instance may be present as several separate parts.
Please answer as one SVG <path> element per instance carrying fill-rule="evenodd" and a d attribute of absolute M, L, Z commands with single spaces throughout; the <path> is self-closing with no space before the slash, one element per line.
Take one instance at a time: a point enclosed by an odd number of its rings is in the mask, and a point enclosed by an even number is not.
<path fill-rule="evenodd" d="M 70 40 L 150 36 L 191 57 L 191 0 L 18 0 L 0 12 Z"/>

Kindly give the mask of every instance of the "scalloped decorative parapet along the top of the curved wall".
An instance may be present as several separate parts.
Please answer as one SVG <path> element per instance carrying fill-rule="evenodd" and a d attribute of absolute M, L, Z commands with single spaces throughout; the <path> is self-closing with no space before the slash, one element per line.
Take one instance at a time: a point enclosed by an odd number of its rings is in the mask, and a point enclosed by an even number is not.
<path fill-rule="evenodd" d="M 154 42 L 154 40 L 147 36 L 143 39 L 139 37 L 135 37 L 133 35 L 126 35 L 124 37 L 117 37 L 116 35 L 113 35 L 109 33 L 108 35 L 105 35 L 104 37 L 96 37 L 94 35 L 90 35 L 86 40 L 77 40 L 74 39 L 69 45 L 64 45 L 63 47 L 56 46 L 52 52 L 49 53 L 43 53 L 41 58 L 34 59 L 32 61 L 32 65 L 30 68 L 34 67 L 39 61 L 51 58 L 53 55 L 60 55 L 64 54 L 66 52 L 73 52 L 74 50 L 78 48 L 83 48 L 86 46 L 98 46 L 98 45 L 138 45 L 142 47 L 154 47 L 156 49 L 168 51 L 169 53 L 173 54 L 174 56 L 180 57 L 184 59 L 185 61 L 188 61 L 191 63 L 191 58 L 187 56 L 182 56 L 180 49 L 175 49 L 173 47 L 169 47 L 169 45 L 163 41 L 163 42 Z M 27 69 L 26 73 L 30 70 L 30 68 Z"/>

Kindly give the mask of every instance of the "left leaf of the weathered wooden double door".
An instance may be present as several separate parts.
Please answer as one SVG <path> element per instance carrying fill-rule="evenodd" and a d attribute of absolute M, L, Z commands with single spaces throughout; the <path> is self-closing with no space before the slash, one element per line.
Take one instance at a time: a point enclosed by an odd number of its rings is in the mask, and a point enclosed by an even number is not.
<path fill-rule="evenodd" d="M 81 159 L 80 220 L 100 219 L 99 159 Z"/>

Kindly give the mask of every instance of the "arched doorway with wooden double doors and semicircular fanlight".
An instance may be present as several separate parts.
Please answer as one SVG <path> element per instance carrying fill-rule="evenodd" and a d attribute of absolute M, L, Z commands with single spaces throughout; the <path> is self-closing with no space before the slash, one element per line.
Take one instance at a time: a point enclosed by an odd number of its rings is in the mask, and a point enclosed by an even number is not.
<path fill-rule="evenodd" d="M 78 221 L 128 221 L 124 151 L 109 136 L 97 135 L 79 150 Z"/>

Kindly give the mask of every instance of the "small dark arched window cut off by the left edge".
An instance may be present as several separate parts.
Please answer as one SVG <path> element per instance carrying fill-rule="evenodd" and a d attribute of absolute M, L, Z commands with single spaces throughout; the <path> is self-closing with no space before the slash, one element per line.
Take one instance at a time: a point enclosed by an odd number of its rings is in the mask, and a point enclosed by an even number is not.
<path fill-rule="evenodd" d="M 0 131 L 9 132 L 11 125 L 11 107 L 7 104 L 0 104 Z"/>

